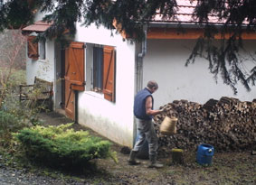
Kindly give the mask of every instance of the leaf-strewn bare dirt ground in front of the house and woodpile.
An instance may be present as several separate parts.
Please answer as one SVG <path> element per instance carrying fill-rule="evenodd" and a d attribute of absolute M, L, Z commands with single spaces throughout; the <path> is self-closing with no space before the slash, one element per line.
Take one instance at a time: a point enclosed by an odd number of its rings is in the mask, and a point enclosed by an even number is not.
<path fill-rule="evenodd" d="M 42 113 L 40 118 L 45 125 L 71 123 L 57 113 Z M 90 130 L 81 125 L 73 125 L 77 130 Z M 95 134 L 90 130 L 90 134 Z M 218 153 L 213 155 L 211 166 L 195 162 L 195 151 L 185 151 L 185 164 L 172 164 L 171 156 L 160 158 L 163 169 L 147 168 L 148 161 L 141 160 L 137 166 L 128 165 L 128 154 L 124 147 L 114 143 L 112 150 L 118 154 L 119 163 L 111 159 L 96 160 L 97 171 L 70 175 L 72 184 L 256 184 L 256 155 L 250 151 L 243 153 Z M 170 149 L 171 150 L 171 149 Z M 68 182 L 64 184 L 69 184 Z"/>

